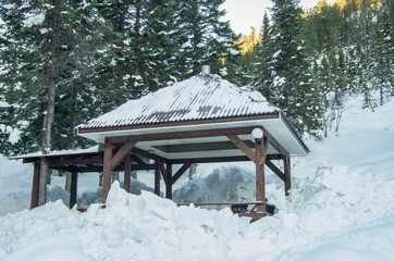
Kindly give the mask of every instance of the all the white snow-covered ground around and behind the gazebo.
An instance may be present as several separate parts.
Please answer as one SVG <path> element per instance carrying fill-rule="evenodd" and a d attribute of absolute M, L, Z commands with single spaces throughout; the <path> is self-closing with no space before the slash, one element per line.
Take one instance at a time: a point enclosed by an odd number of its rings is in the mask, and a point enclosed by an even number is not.
<path fill-rule="evenodd" d="M 311 153 L 293 159 L 293 188 L 267 176 L 278 213 L 249 223 L 229 209 L 177 208 L 115 183 L 107 209 L 86 213 L 62 201 L 29 206 L 33 167 L 0 158 L 0 260 L 394 260 L 394 100 L 375 112 L 348 103 L 340 134 L 307 140 Z M 97 174 L 78 178 L 79 203 L 94 201 Z M 152 185 L 138 174 L 135 192 Z M 251 164 L 206 164 L 176 183 L 176 201 L 254 199 Z M 53 177 L 49 198 L 66 199 Z M 85 192 L 85 195 L 84 195 Z M 22 210 L 22 211 L 20 211 Z M 19 211 L 19 212 L 16 212 Z"/>

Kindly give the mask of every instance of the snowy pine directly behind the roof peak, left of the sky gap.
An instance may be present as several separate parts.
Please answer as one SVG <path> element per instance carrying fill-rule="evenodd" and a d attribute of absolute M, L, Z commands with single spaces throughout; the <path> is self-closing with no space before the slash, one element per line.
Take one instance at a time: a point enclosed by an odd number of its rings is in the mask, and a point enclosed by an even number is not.
<path fill-rule="evenodd" d="M 177 30 L 176 67 L 181 78 L 200 73 L 201 65 L 210 65 L 212 73 L 219 73 L 221 58 L 231 60 L 231 48 L 236 48 L 236 35 L 229 22 L 220 18 L 225 11 L 220 10 L 224 0 L 182 0 L 174 1 L 178 20 L 174 21 Z"/>

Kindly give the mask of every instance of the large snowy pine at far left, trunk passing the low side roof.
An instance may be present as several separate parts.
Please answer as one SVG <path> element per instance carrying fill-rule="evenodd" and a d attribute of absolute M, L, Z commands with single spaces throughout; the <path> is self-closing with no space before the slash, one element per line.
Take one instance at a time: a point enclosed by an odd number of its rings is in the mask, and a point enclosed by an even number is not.
<path fill-rule="evenodd" d="M 26 0 L 10 1 L 0 8 L 5 23 L 1 61 L 12 69 L 3 72 L 2 86 L 9 103 L 19 110 L 15 122 L 22 130 L 20 150 L 36 150 L 40 145 L 41 152 L 48 153 L 52 148 L 62 147 L 53 142 L 53 138 L 57 141 L 53 134 L 59 138 L 75 128 L 77 115 L 73 110 L 82 94 L 81 80 L 87 76 L 84 70 L 93 66 L 85 48 L 94 44 L 85 44 L 91 37 L 87 25 L 95 21 L 83 13 L 87 7 L 86 1 Z M 72 94 L 71 107 L 62 103 L 69 94 Z M 63 115 L 70 116 L 69 123 L 59 117 Z M 46 160 L 41 161 L 40 171 L 39 204 L 44 204 L 48 179 Z"/>

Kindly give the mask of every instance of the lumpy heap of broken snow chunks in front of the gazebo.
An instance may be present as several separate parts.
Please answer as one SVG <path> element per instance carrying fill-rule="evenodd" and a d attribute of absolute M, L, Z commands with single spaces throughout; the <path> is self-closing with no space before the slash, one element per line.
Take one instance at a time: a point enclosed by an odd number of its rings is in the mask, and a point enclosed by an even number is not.
<path fill-rule="evenodd" d="M 127 194 L 116 182 L 106 209 L 93 204 L 79 214 L 57 201 L 0 217 L 0 257 L 25 251 L 37 239 L 72 233 L 97 260 L 250 260 L 269 246 L 250 228 L 249 219 L 229 209 L 177 208 L 148 191 Z"/>

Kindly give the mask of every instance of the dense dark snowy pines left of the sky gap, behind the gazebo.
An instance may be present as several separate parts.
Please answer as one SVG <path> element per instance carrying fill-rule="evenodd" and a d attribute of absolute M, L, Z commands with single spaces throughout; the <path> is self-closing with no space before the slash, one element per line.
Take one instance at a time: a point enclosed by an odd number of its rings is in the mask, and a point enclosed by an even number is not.
<path fill-rule="evenodd" d="M 2 1 L 0 152 L 88 146 L 77 124 L 202 64 L 218 71 L 237 38 L 223 1 Z"/>

